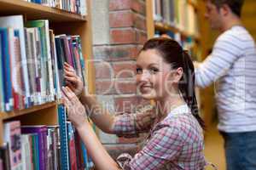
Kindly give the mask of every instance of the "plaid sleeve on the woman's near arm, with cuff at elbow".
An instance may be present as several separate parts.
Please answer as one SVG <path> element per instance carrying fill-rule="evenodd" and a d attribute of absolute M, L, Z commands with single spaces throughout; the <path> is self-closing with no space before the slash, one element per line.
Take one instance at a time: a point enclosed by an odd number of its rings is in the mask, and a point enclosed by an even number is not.
<path fill-rule="evenodd" d="M 184 140 L 177 127 L 162 127 L 133 158 L 125 154 L 117 161 L 123 170 L 154 170 L 174 160 L 183 148 Z"/>

